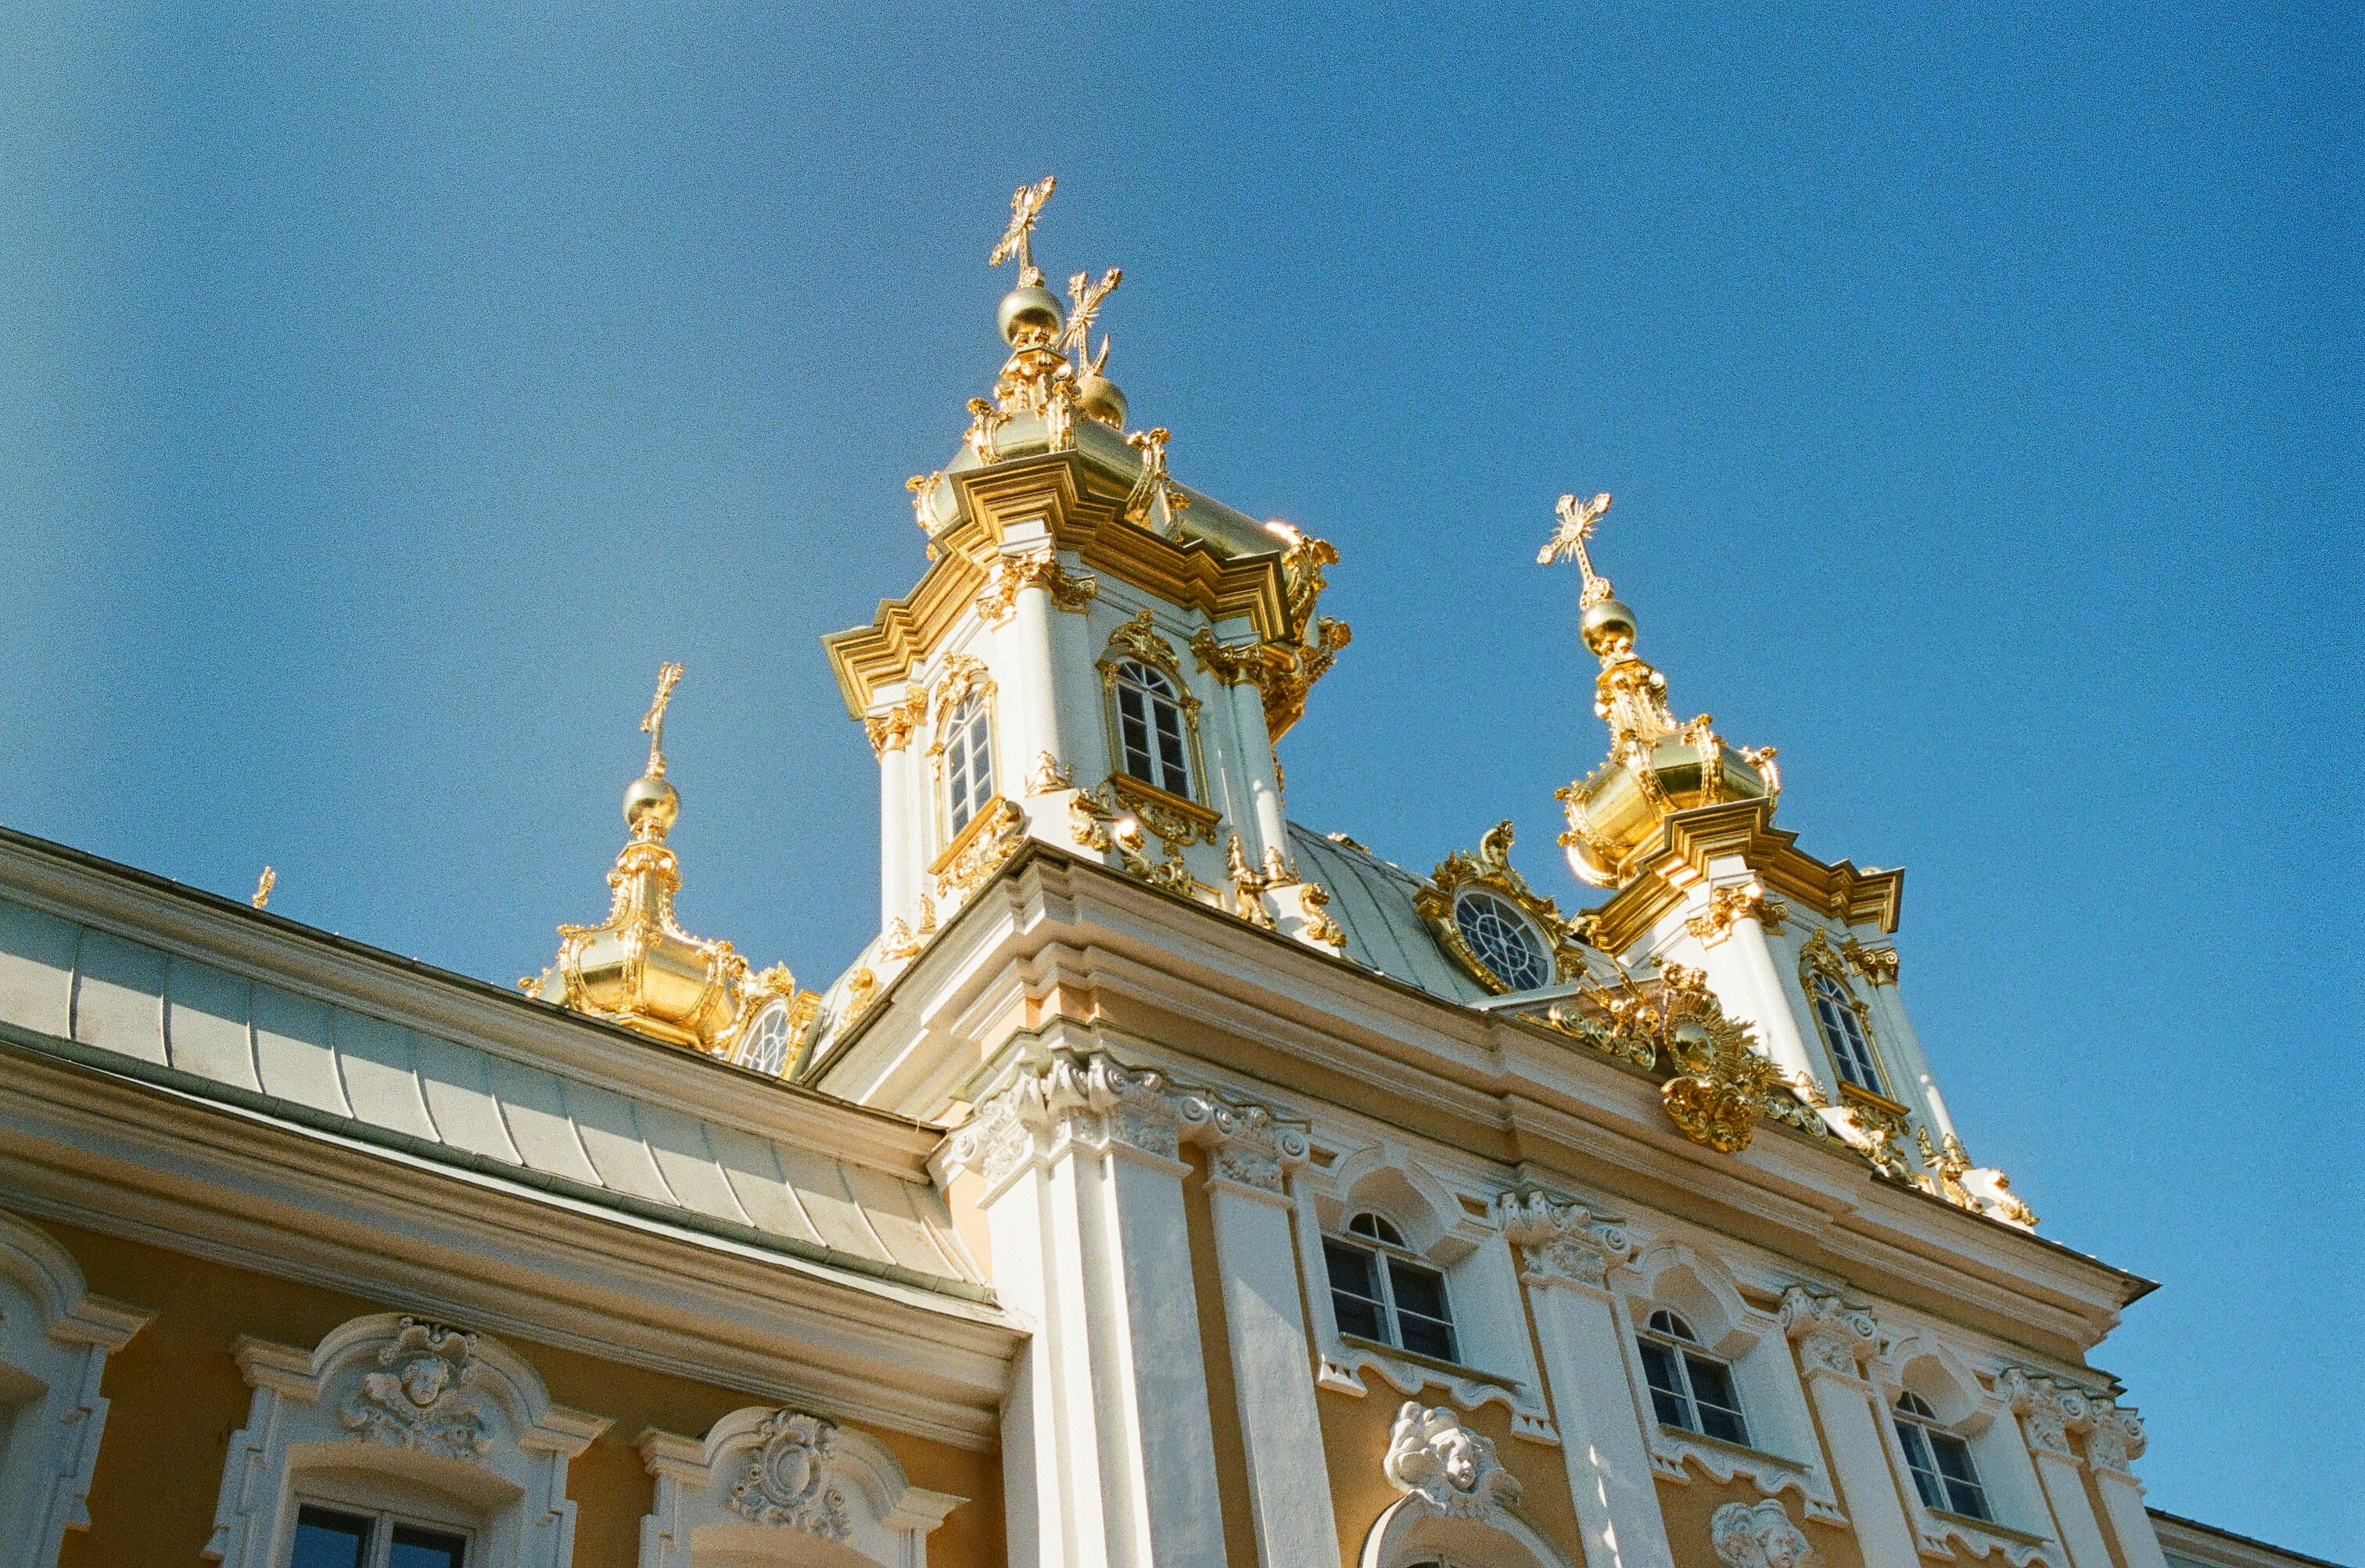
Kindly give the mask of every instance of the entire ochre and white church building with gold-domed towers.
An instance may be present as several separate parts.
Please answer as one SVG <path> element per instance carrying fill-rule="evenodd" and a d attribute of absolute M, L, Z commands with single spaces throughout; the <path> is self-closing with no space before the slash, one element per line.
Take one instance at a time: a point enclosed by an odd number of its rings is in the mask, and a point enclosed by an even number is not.
<path fill-rule="evenodd" d="M 1339 551 L 1128 426 L 1050 194 L 927 570 L 825 639 L 821 991 L 676 918 L 679 665 L 523 986 L 0 832 L 0 1568 L 2308 1561 L 2145 1509 L 2150 1282 L 1968 1152 L 1904 873 L 1677 719 L 1606 494 L 1542 549 L 1599 901 L 1291 821 Z"/>

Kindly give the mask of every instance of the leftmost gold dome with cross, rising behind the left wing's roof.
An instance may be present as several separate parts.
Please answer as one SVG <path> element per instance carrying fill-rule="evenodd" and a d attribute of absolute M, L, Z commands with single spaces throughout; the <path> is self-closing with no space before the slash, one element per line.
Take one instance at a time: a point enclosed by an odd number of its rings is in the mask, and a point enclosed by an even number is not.
<path fill-rule="evenodd" d="M 641 719 L 648 771 L 624 788 L 631 837 L 608 870 L 608 918 L 561 925 L 558 958 L 520 984 L 527 996 L 572 1012 L 726 1057 L 773 1000 L 795 1005 L 802 998 L 785 965 L 752 974 L 728 941 L 705 941 L 674 925 L 681 861 L 665 835 L 681 816 L 681 795 L 665 778 L 665 707 L 676 681 L 681 665 L 665 665 L 657 700 Z"/>

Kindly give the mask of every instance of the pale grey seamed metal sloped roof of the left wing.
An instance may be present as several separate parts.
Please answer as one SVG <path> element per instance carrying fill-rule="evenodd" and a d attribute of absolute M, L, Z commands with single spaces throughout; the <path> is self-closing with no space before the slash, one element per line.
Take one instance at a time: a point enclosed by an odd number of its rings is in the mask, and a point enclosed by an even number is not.
<path fill-rule="evenodd" d="M 130 1076 L 248 1112 L 277 1107 L 359 1142 L 442 1154 L 478 1173 L 511 1168 L 525 1187 L 676 1213 L 814 1263 L 986 1298 L 925 1178 L 168 953 L 5 892 L 0 1031 L 35 1050 L 54 1045 L 54 1055 L 111 1057 Z M 679 1064 L 714 1067 L 688 1055 Z M 747 1093 L 809 1090 L 750 1078 Z"/>

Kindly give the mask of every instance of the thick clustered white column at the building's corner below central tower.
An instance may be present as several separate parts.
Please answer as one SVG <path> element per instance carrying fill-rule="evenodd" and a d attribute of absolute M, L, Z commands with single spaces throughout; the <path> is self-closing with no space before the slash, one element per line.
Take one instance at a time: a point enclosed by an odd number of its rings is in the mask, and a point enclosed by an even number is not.
<path fill-rule="evenodd" d="M 1034 1322 L 1029 1431 L 1005 1417 L 1003 1440 L 1012 1563 L 1223 1568 L 1178 1159 L 1187 1104 L 1159 1074 L 1057 1052 L 941 1156 L 984 1175 L 993 1289 Z"/>

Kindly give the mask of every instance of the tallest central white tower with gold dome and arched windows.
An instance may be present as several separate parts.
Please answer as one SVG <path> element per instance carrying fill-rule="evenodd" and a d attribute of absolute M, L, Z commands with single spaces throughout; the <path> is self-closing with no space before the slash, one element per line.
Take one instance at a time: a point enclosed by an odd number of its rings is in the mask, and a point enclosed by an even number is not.
<path fill-rule="evenodd" d="M 825 639 L 880 764 L 880 939 L 847 1012 L 1026 840 L 1341 939 L 1291 858 L 1272 750 L 1348 641 L 1317 613 L 1339 553 L 1187 490 L 1168 430 L 1128 428 L 1093 341 L 1123 274 L 1045 289 L 1052 189 L 1019 187 L 989 258 L 1017 265 L 993 395 L 908 480 L 927 568 Z"/>

